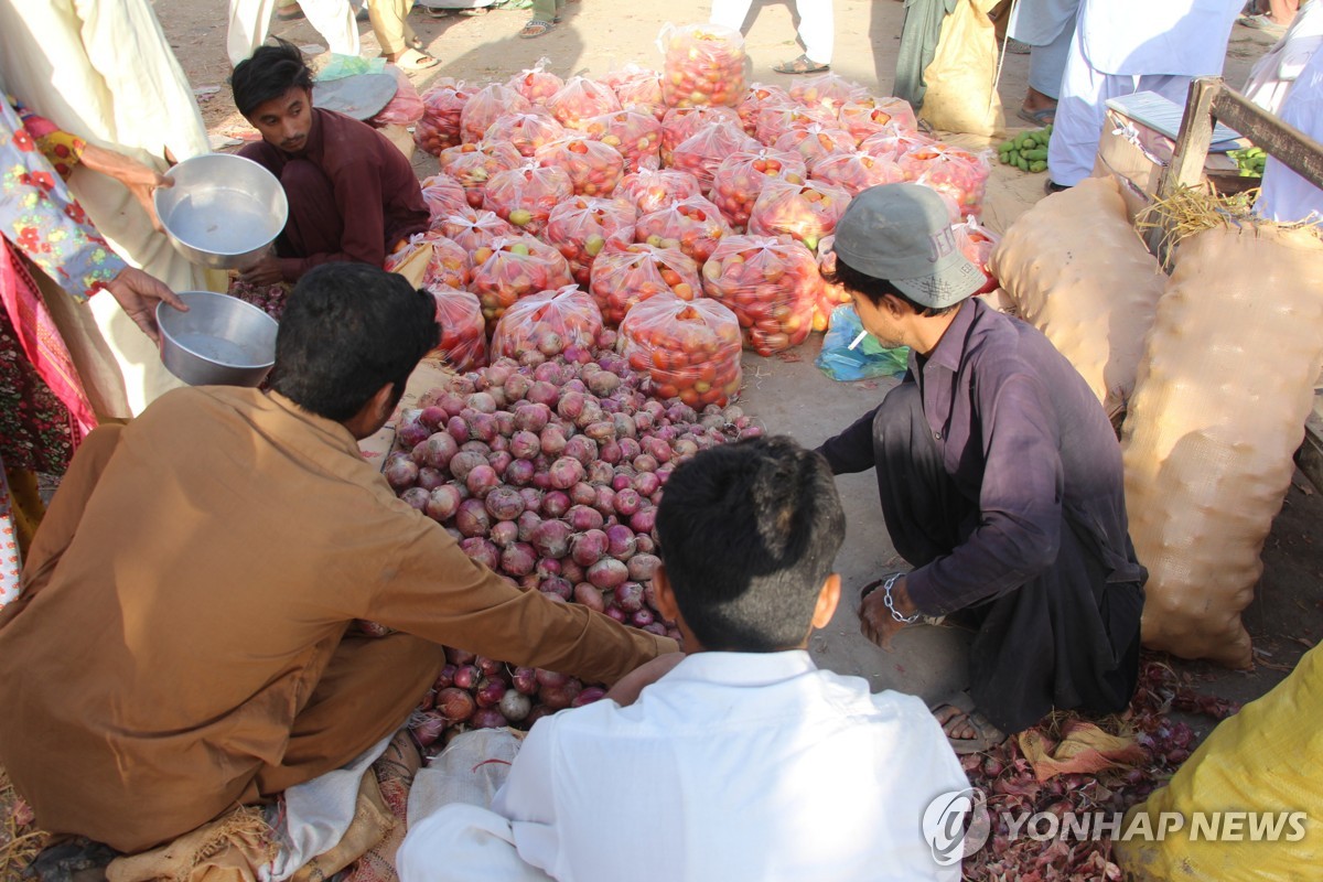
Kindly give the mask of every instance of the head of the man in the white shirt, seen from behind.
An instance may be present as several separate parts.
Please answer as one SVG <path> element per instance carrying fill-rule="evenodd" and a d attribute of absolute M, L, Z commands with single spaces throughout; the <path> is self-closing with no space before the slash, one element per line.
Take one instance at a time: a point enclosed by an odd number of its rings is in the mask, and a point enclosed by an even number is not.
<path fill-rule="evenodd" d="M 785 435 L 753 438 L 676 468 L 656 533 L 680 615 L 705 649 L 778 652 L 808 636 L 845 513 L 822 455 Z"/>

